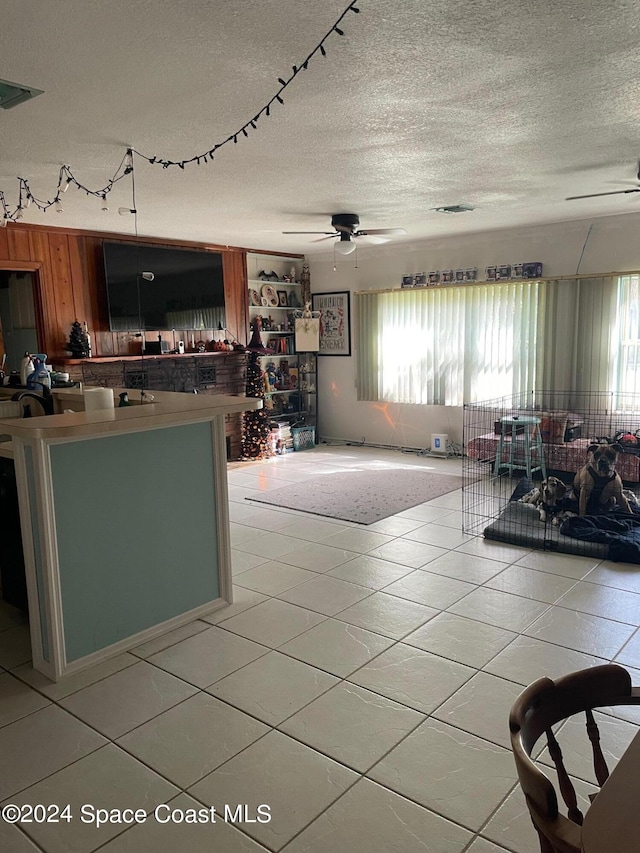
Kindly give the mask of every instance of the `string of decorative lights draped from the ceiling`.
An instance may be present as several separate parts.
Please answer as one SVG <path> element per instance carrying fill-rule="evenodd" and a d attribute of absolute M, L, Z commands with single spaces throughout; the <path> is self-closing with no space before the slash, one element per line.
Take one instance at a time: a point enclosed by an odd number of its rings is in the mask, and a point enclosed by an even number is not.
<path fill-rule="evenodd" d="M 271 115 L 271 109 L 275 104 L 284 104 L 284 98 L 282 97 L 282 93 L 285 89 L 295 80 L 295 78 L 302 72 L 306 71 L 309 67 L 310 61 L 316 57 L 318 54 L 322 57 L 326 57 L 327 49 L 325 47 L 325 43 L 327 40 L 336 33 L 339 36 L 344 35 L 344 30 L 340 27 L 343 19 L 349 14 L 349 12 L 360 12 L 360 9 L 356 5 L 357 0 L 353 0 L 349 3 L 347 8 L 342 12 L 340 17 L 335 21 L 335 23 L 331 26 L 328 32 L 322 37 L 322 39 L 318 42 L 318 44 L 314 47 L 311 53 L 299 64 L 293 65 L 291 74 L 288 77 L 278 77 L 278 83 L 280 84 L 280 88 L 273 95 L 273 97 L 262 107 L 262 109 L 258 110 L 257 113 L 254 114 L 252 118 L 246 121 L 238 130 L 230 133 L 229 136 L 222 140 L 222 142 L 217 142 L 215 145 L 210 146 L 204 153 L 196 154 L 194 157 L 185 158 L 182 160 L 167 160 L 162 157 L 149 157 L 146 154 L 143 154 L 141 151 L 137 149 L 128 148 L 126 154 L 122 158 L 122 161 L 118 168 L 116 169 L 113 177 L 108 181 L 106 186 L 102 187 L 102 189 L 91 190 L 88 187 L 84 186 L 77 180 L 73 172 L 71 171 L 69 166 L 62 166 L 60 169 L 60 173 L 58 175 L 58 185 L 56 187 L 56 192 L 52 200 L 44 201 L 42 199 L 36 198 L 36 196 L 32 193 L 29 182 L 26 178 L 18 178 L 19 182 L 19 198 L 18 205 L 12 211 L 7 204 L 6 196 L 0 190 L 0 204 L 2 205 L 2 218 L 0 218 L 0 227 L 6 226 L 7 222 L 13 221 L 16 222 L 20 219 L 24 218 L 24 211 L 31 205 L 34 204 L 39 210 L 46 212 L 51 207 L 55 207 L 58 213 L 63 212 L 62 200 L 60 196 L 65 193 L 71 184 L 74 184 L 77 189 L 84 190 L 87 195 L 95 196 L 97 198 L 102 199 L 102 209 L 108 210 L 107 205 L 107 196 L 122 178 L 129 175 L 133 169 L 133 153 L 135 153 L 143 160 L 146 160 L 147 163 L 151 165 L 162 166 L 164 169 L 168 169 L 171 166 L 178 166 L 180 169 L 184 169 L 185 166 L 188 166 L 192 163 L 196 165 L 200 165 L 201 163 L 209 163 L 213 162 L 215 154 L 225 145 L 233 143 L 234 145 L 239 142 L 240 139 L 246 138 L 249 136 L 251 130 L 256 130 L 257 122 L 262 117 L 268 117 Z M 127 210 L 127 212 L 129 212 Z"/>

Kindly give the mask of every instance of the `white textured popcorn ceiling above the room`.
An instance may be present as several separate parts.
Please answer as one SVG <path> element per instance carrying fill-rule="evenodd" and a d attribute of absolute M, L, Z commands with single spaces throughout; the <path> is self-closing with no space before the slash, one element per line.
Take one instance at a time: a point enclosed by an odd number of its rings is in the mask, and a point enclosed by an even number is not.
<path fill-rule="evenodd" d="M 0 111 L 0 190 L 52 198 L 62 164 L 100 188 L 127 145 L 182 160 L 251 119 L 348 0 L 3 0 L 0 77 L 45 90 Z M 269 118 L 215 163 L 135 159 L 141 234 L 311 253 L 330 215 L 417 240 L 640 210 L 637 0 L 357 0 Z M 29 222 L 130 232 L 80 191 Z M 431 208 L 465 203 L 472 213 Z"/>

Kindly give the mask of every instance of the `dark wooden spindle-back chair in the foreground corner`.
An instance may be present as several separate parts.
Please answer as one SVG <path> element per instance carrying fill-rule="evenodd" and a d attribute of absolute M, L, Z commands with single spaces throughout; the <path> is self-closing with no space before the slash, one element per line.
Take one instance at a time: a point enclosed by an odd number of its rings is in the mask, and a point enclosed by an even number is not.
<path fill-rule="evenodd" d="M 552 727 L 583 712 L 591 741 L 593 765 L 600 787 L 608 776 L 600 747 L 594 708 L 640 704 L 640 689 L 631 686 L 631 676 L 617 664 L 594 666 L 552 681 L 541 678 L 524 690 L 509 714 L 511 748 L 531 820 L 540 839 L 541 853 L 580 853 L 582 812 L 562 751 Z M 558 797 L 550 779 L 531 758 L 536 742 L 545 734 L 549 753 L 558 774 L 558 787 L 567 817 L 560 813 Z"/>

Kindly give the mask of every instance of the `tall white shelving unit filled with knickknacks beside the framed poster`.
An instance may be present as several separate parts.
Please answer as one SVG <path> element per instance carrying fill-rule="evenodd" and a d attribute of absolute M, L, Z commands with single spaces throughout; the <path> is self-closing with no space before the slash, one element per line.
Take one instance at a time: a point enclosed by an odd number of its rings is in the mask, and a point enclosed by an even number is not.
<path fill-rule="evenodd" d="M 260 356 L 272 389 L 265 394 L 265 408 L 271 413 L 274 429 L 286 434 L 290 443 L 287 428 L 307 426 L 315 430 L 317 425 L 316 354 L 295 349 L 295 312 L 303 307 L 302 259 L 248 254 L 247 272 L 249 323 L 262 318 L 262 341 L 274 350 L 273 355 Z M 267 273 L 273 275 L 267 277 Z M 273 276 L 278 281 L 271 280 Z M 278 304 L 274 304 L 276 299 Z M 286 306 L 280 304 L 285 301 Z"/>

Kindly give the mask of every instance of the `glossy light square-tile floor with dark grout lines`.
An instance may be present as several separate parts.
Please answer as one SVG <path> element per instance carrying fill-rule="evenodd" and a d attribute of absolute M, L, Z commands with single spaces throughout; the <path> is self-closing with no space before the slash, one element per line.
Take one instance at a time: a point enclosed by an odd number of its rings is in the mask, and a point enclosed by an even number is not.
<path fill-rule="evenodd" d="M 640 668 L 640 570 L 463 535 L 459 491 L 367 528 L 246 500 L 396 465 L 460 469 L 358 447 L 230 466 L 234 603 L 60 684 L 0 604 L 0 805 L 73 815 L 0 821 L 0 849 L 537 853 L 509 706 L 542 675 Z M 613 764 L 640 713 L 599 716 Z M 225 804 L 245 820 L 186 819 Z M 141 812 L 96 827 L 91 807 Z"/>

